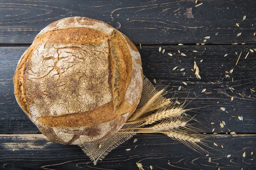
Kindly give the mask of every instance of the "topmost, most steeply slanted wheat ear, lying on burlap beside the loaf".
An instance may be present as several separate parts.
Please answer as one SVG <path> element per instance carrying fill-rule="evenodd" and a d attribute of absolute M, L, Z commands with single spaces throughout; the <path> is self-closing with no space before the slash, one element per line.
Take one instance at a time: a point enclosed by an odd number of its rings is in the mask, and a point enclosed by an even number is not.
<path fill-rule="evenodd" d="M 138 118 L 140 118 L 143 113 L 147 112 L 148 108 L 151 108 L 151 106 L 153 105 L 153 103 L 159 99 L 160 97 L 162 97 L 163 92 L 165 89 L 162 89 L 160 91 L 158 91 L 156 94 L 154 94 L 154 96 L 151 97 L 151 99 L 148 100 L 148 102 L 146 102 L 145 105 L 143 105 L 142 108 L 138 109 L 138 111 L 136 111 L 133 116 L 127 121 L 127 122 L 131 122 L 134 121 Z"/>

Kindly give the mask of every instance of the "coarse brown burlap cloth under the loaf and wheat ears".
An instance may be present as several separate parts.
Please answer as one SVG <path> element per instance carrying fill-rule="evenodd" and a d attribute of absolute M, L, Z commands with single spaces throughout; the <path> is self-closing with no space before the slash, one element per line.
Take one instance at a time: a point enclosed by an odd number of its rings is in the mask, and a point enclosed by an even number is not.
<path fill-rule="evenodd" d="M 156 88 L 157 87 L 154 87 L 154 85 L 145 76 L 143 76 L 143 90 L 137 109 L 140 109 L 146 102 L 148 102 L 148 100 L 156 93 Z M 122 128 L 134 126 L 134 124 L 124 125 Z M 134 135 L 135 133 L 116 134 L 104 141 L 92 144 L 80 144 L 79 147 L 81 147 L 84 153 L 86 153 L 86 155 L 89 156 L 91 161 L 93 161 L 93 163 L 96 165 L 97 162 L 104 159 L 105 156 L 111 152 L 111 150 L 115 149 Z"/>

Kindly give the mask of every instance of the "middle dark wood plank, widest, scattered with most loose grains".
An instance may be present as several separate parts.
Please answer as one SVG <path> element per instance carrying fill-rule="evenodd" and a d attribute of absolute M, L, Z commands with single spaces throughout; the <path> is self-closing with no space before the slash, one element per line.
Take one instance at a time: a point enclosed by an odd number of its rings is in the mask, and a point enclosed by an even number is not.
<path fill-rule="evenodd" d="M 256 52 L 250 53 L 247 59 L 244 59 L 247 51 L 254 47 L 255 45 L 162 45 L 162 49 L 166 51 L 163 54 L 158 52 L 157 45 L 143 45 L 142 49 L 138 46 L 144 74 L 151 82 L 156 79 L 157 82 L 162 80 L 163 84 L 169 84 L 169 97 L 176 91 L 175 97 L 179 102 L 185 100 L 188 92 L 190 99 L 194 99 L 195 94 L 198 96 L 186 107 L 198 108 L 194 110 L 198 113 L 187 113 L 191 116 L 196 114 L 195 119 L 200 123 L 192 122 L 193 125 L 207 133 L 212 133 L 213 127 L 218 133 L 229 130 L 236 133 L 256 133 L 256 95 L 250 90 L 256 90 Z M 12 76 L 26 48 L 0 47 L 0 134 L 40 133 L 20 109 L 13 94 Z M 178 50 L 186 54 L 186 57 L 181 56 Z M 193 50 L 198 52 L 192 52 Z M 236 65 L 241 51 L 241 57 Z M 172 57 L 167 54 L 169 52 L 173 54 Z M 224 57 L 225 54 L 228 54 L 227 57 Z M 201 59 L 203 61 L 200 63 Z M 200 69 L 201 80 L 196 79 L 195 72 L 191 71 L 194 61 Z M 179 67 L 173 71 L 176 66 Z M 180 71 L 181 68 L 185 70 Z M 231 69 L 234 69 L 233 73 L 227 74 L 230 77 L 225 78 L 225 71 Z M 187 85 L 182 82 L 186 82 Z M 182 86 L 180 91 L 179 86 Z M 229 87 L 235 90 L 232 92 Z M 201 95 L 204 88 L 207 90 Z M 234 97 L 233 101 L 231 96 Z M 226 108 L 227 112 L 221 111 L 220 107 Z M 238 116 L 243 116 L 244 120 L 239 120 Z M 221 121 L 226 123 L 222 129 L 219 125 Z M 211 122 L 215 122 L 215 125 L 211 125 Z"/>

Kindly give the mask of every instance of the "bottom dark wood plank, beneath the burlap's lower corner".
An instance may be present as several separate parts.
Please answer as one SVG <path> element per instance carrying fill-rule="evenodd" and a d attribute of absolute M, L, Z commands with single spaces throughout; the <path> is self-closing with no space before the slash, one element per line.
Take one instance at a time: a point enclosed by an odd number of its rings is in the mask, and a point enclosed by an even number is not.
<path fill-rule="evenodd" d="M 145 170 L 254 170 L 255 135 L 208 136 L 209 156 L 201 155 L 160 134 L 136 135 L 94 166 L 76 145 L 48 141 L 43 135 L 0 135 L 0 168 L 7 170 L 134 170 L 136 162 Z M 137 142 L 133 143 L 137 138 Z M 212 142 L 218 144 L 214 146 Z M 224 148 L 221 148 L 220 145 Z M 137 146 L 135 149 L 134 147 Z M 130 151 L 126 151 L 131 148 Z M 251 155 L 251 152 L 254 152 Z M 245 158 L 243 153 L 246 152 Z M 231 154 L 230 158 L 227 155 Z M 211 162 L 208 162 L 209 157 Z"/>

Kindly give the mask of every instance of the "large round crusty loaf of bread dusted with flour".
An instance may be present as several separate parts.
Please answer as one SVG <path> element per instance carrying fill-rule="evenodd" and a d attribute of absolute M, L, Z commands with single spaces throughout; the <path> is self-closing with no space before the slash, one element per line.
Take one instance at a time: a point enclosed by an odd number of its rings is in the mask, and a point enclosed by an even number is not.
<path fill-rule="evenodd" d="M 44 28 L 13 77 L 18 104 L 52 141 L 99 142 L 135 111 L 143 72 L 136 46 L 110 25 L 69 17 Z"/>

